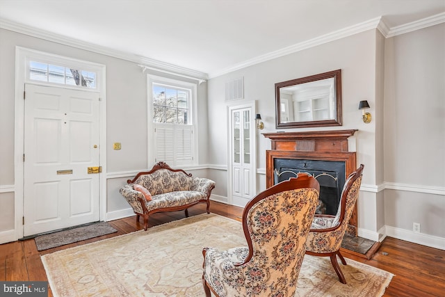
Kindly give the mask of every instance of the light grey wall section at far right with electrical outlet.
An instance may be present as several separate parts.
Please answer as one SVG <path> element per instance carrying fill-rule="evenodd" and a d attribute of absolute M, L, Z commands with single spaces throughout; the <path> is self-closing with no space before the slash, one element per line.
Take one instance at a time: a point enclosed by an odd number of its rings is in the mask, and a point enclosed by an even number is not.
<path fill-rule="evenodd" d="M 445 24 L 387 39 L 385 61 L 385 224 L 445 248 Z"/>

